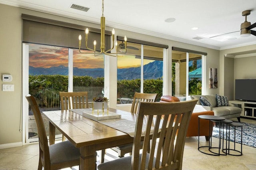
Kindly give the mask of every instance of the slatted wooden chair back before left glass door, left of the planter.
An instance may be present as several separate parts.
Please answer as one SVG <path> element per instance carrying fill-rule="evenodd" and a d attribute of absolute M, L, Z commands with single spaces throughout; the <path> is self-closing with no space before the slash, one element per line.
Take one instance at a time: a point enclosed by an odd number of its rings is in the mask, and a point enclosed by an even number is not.
<path fill-rule="evenodd" d="M 88 108 L 88 92 L 60 92 L 61 110 Z"/>

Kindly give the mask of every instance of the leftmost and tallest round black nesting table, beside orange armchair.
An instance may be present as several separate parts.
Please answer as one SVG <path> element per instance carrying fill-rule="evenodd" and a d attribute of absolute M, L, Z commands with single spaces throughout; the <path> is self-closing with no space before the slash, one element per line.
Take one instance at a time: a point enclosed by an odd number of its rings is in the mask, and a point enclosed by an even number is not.
<path fill-rule="evenodd" d="M 198 150 L 199 152 L 202 152 L 204 154 L 208 154 L 208 155 L 213 155 L 213 156 L 220 156 L 220 147 L 221 147 L 221 138 L 220 138 L 220 127 L 219 127 L 219 145 L 218 145 L 218 153 L 212 152 L 210 149 L 214 148 L 212 147 L 212 139 L 209 140 L 209 145 L 208 146 L 200 146 L 200 119 L 206 119 L 209 120 L 209 134 L 210 137 L 212 138 L 212 122 L 218 122 L 220 125 L 220 121 L 225 120 L 224 117 L 220 117 L 220 116 L 213 116 L 213 115 L 199 115 L 198 116 Z M 200 150 L 200 148 L 204 148 L 207 147 L 208 150 L 210 151 L 210 153 L 208 152 L 204 152 L 202 150 Z M 216 147 L 215 147 L 216 148 Z"/>

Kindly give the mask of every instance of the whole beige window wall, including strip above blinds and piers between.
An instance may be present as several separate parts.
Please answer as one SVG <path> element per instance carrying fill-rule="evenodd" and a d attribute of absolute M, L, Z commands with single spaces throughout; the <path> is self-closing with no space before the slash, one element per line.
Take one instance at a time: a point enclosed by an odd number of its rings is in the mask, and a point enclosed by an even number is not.
<path fill-rule="evenodd" d="M 29 14 L 44 18 L 49 18 L 53 20 L 59 20 L 63 22 L 70 22 L 73 24 L 86 25 L 89 27 L 99 28 L 96 24 L 86 23 L 78 20 L 73 20 L 71 18 L 64 18 L 60 16 L 54 16 L 50 14 L 44 14 L 41 12 L 35 12 L 31 10 L 21 9 L 17 7 L 6 6 L 0 4 L 0 73 L 11 74 L 13 76 L 14 92 L 3 92 L 0 91 L 0 148 L 8 147 L 12 144 L 22 142 L 22 133 L 20 132 L 20 117 L 22 115 L 22 20 L 21 14 Z M 106 30 L 111 31 L 111 28 L 106 28 Z M 186 43 L 175 42 L 171 40 L 166 40 L 163 38 L 156 38 L 153 36 L 147 36 L 144 34 L 138 34 L 134 32 L 128 32 L 124 30 L 115 29 L 116 35 L 124 36 L 129 38 L 145 40 L 149 42 L 162 43 L 169 45 L 167 50 L 167 77 L 168 77 L 168 87 L 167 93 L 171 94 L 171 56 L 172 56 L 172 46 L 192 49 L 197 51 L 207 52 L 206 57 L 206 81 L 209 78 L 208 70 L 210 67 L 220 69 L 220 51 L 215 49 L 209 49 L 205 47 L 200 47 L 196 45 L 190 45 Z M 110 107 L 116 107 L 116 58 L 110 57 L 110 68 L 108 72 L 110 73 L 110 83 L 107 85 L 111 87 L 108 91 L 110 98 Z M 224 67 L 224 66 L 223 66 Z M 220 72 L 218 72 L 220 73 Z M 220 73 L 221 74 L 221 73 Z M 1 81 L 1 87 L 3 82 Z M 208 83 L 206 83 L 208 84 Z M 224 83 L 222 83 L 224 84 Z M 221 86 L 221 84 L 220 84 Z M 206 94 L 216 94 L 219 93 L 218 89 L 206 88 Z M 118 108 L 120 109 L 120 108 Z M 126 107 L 127 109 L 127 107 Z M 129 109 L 128 109 L 129 110 Z"/>

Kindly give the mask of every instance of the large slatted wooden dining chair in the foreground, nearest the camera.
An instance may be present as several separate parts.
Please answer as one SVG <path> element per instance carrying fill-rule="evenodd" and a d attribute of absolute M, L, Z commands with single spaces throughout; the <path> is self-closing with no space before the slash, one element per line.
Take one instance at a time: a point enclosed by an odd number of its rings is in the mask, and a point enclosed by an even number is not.
<path fill-rule="evenodd" d="M 181 170 L 188 122 L 197 101 L 193 99 L 172 103 L 140 102 L 132 156 L 99 164 L 98 170 Z M 142 138 L 144 142 L 140 154 Z"/>

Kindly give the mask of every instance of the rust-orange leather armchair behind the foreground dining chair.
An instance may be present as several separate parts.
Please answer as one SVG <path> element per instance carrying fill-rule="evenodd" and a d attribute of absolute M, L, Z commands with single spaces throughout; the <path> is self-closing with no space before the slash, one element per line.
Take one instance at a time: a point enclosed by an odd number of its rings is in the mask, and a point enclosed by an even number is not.
<path fill-rule="evenodd" d="M 160 98 L 160 102 L 178 102 L 180 99 L 178 97 L 164 95 Z M 182 101 L 181 101 L 182 102 Z M 187 137 L 198 136 L 198 116 L 199 115 L 214 115 L 213 111 L 202 111 L 198 113 L 192 113 L 191 119 L 188 125 Z M 203 128 L 202 128 L 203 127 Z M 212 127 L 213 128 L 213 127 Z M 209 140 L 211 136 L 209 134 L 209 121 L 201 119 L 200 120 L 200 136 L 205 136 L 206 140 Z"/>

